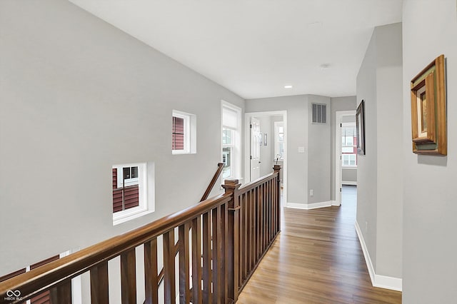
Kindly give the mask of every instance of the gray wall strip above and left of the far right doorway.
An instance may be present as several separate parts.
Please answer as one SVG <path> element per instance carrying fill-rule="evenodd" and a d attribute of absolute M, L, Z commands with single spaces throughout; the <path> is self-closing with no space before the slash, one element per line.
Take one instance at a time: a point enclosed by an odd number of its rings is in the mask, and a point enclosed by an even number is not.
<path fill-rule="evenodd" d="M 331 125 L 330 125 L 330 163 L 331 163 L 331 180 L 330 180 L 330 193 L 331 200 L 335 201 L 335 128 L 336 128 L 336 112 L 337 111 L 355 111 L 356 110 L 356 96 L 336 97 L 331 98 Z M 343 116 L 344 117 L 344 116 Z"/>

